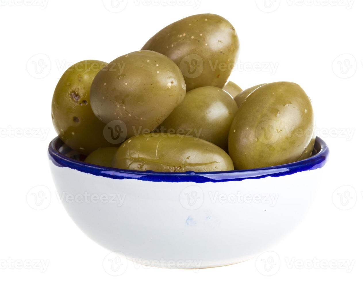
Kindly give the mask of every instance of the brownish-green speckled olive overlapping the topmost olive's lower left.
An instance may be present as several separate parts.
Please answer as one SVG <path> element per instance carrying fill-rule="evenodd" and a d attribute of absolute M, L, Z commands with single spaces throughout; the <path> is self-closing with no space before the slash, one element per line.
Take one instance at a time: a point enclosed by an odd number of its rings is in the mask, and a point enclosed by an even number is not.
<path fill-rule="evenodd" d="M 91 107 L 103 122 L 122 120 L 127 137 L 155 129 L 184 99 L 178 66 L 153 51 L 136 51 L 113 60 L 94 78 Z"/>

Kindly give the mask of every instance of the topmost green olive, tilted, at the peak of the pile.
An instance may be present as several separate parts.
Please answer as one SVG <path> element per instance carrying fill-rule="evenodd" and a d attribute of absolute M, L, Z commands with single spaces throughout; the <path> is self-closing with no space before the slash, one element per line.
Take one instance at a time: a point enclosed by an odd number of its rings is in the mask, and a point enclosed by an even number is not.
<path fill-rule="evenodd" d="M 186 17 L 156 33 L 142 47 L 172 59 L 183 72 L 187 91 L 223 88 L 237 60 L 240 43 L 229 21 L 214 14 Z"/>

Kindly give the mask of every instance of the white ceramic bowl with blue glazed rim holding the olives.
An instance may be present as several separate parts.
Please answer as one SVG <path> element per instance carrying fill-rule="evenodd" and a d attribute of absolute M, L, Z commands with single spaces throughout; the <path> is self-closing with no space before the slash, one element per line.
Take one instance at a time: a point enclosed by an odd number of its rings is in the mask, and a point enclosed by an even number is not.
<path fill-rule="evenodd" d="M 62 202 L 91 239 L 145 265 L 196 269 L 245 261 L 289 233 L 313 200 L 329 149 L 317 138 L 303 161 L 206 173 L 90 165 L 59 138 L 48 152 Z"/>

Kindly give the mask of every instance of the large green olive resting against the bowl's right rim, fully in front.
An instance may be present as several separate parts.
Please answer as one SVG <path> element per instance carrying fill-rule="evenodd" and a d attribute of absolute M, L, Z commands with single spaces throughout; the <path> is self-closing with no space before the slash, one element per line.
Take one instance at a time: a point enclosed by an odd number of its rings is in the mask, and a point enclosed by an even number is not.
<path fill-rule="evenodd" d="M 313 108 L 304 90 L 293 82 L 269 83 L 238 108 L 229 155 L 236 169 L 287 164 L 304 154 L 313 132 Z"/>

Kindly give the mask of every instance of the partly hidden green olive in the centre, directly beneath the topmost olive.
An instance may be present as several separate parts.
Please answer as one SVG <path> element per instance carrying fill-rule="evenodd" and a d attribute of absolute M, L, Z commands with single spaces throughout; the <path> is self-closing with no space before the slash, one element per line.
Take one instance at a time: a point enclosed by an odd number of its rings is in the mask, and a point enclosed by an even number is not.
<path fill-rule="evenodd" d="M 214 86 L 195 88 L 187 92 L 159 129 L 192 135 L 227 150 L 229 128 L 237 109 L 236 102 L 224 90 Z"/>

